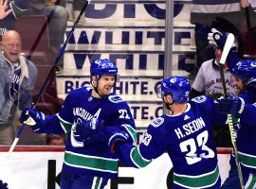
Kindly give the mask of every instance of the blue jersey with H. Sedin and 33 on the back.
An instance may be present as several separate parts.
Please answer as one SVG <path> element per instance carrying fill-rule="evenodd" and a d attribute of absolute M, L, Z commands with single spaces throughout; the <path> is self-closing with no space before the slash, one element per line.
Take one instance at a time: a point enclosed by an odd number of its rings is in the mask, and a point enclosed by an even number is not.
<path fill-rule="evenodd" d="M 227 116 L 213 106 L 209 96 L 198 96 L 185 112 L 156 118 L 139 146 L 116 147 L 120 160 L 143 167 L 167 152 L 174 164 L 174 188 L 220 188 L 211 125 L 225 123 Z"/>

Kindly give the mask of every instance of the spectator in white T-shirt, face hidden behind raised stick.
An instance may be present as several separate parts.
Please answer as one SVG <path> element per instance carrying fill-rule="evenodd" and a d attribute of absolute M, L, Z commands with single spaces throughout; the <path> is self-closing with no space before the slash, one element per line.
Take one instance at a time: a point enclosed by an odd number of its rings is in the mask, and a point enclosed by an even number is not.
<path fill-rule="evenodd" d="M 199 68 L 192 83 L 192 91 L 190 93 L 191 99 L 203 94 L 210 94 L 213 98 L 223 95 L 223 86 L 218 65 L 222 56 L 222 51 L 217 46 L 214 47 L 214 55 L 214 59 L 203 62 Z M 224 75 L 228 94 L 236 94 L 233 83 L 234 77 L 229 72 L 227 63 L 225 64 Z M 231 146 L 230 140 L 223 140 L 230 138 L 228 126 L 212 126 L 212 133 L 216 146 Z"/>

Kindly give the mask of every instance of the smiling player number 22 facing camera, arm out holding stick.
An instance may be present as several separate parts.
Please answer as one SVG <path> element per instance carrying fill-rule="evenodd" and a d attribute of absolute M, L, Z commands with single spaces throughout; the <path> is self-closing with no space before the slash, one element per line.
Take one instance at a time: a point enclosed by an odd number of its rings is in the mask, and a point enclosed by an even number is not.
<path fill-rule="evenodd" d="M 62 189 L 103 188 L 116 178 L 118 157 L 110 153 L 108 138 L 95 132 L 100 120 L 124 133 L 128 142 L 136 140 L 136 128 L 127 103 L 111 90 L 119 79 L 118 68 L 110 60 L 95 60 L 91 64 L 91 88 L 80 88 L 68 94 L 62 110 L 45 116 L 28 109 L 21 122 L 35 132 L 68 133 L 62 170 Z M 89 121 L 88 121 L 89 120 Z M 83 135 L 86 134 L 86 137 Z M 90 139 L 90 141 L 88 141 Z"/>

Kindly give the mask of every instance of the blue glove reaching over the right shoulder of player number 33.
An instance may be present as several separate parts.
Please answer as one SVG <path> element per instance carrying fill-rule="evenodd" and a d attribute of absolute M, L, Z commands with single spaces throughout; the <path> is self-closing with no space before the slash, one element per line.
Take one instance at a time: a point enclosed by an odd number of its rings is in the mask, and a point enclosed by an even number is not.
<path fill-rule="evenodd" d="M 218 98 L 214 102 L 215 108 L 219 112 L 234 114 L 240 117 L 245 111 L 245 100 L 241 97 L 229 96 L 229 98 Z"/>

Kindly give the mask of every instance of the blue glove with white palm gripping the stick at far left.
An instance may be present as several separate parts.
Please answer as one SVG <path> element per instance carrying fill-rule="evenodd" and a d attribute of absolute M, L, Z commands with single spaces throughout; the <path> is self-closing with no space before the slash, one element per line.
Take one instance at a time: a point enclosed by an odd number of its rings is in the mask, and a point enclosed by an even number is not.
<path fill-rule="evenodd" d="M 20 116 L 20 122 L 30 126 L 34 132 L 40 132 L 40 129 L 46 119 L 43 112 L 39 112 L 35 109 L 25 108 Z"/>

